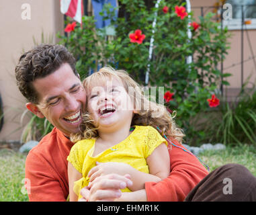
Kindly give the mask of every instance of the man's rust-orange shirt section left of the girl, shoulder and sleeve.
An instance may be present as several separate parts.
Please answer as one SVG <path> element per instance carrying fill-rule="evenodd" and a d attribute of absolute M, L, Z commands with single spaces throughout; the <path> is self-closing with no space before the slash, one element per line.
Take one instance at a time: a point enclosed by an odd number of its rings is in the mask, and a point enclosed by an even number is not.
<path fill-rule="evenodd" d="M 67 200 L 67 156 L 72 146 L 73 143 L 60 130 L 53 128 L 30 150 L 25 167 L 26 181 L 30 181 L 27 189 L 30 201 Z"/>

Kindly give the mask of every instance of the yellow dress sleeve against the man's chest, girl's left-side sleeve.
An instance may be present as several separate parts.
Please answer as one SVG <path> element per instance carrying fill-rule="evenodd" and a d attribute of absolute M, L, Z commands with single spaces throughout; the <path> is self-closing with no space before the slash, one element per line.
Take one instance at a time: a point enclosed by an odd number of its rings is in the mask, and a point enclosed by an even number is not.
<path fill-rule="evenodd" d="M 81 141 L 79 141 L 73 145 L 69 156 L 67 157 L 67 160 L 73 165 L 73 167 L 75 167 L 75 169 L 77 169 L 77 171 L 79 171 L 79 173 L 82 173 L 83 168 L 82 157 Z"/>

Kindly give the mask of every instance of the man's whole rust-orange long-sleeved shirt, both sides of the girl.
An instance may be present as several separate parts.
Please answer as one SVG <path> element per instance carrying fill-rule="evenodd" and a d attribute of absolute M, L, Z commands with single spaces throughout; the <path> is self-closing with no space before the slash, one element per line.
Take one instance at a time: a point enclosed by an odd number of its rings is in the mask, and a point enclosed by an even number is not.
<path fill-rule="evenodd" d="M 177 141 L 173 141 L 179 144 Z M 30 201 L 66 201 L 69 195 L 67 156 L 73 143 L 54 128 L 28 153 L 26 181 Z M 179 145 L 180 146 L 180 145 Z M 148 201 L 183 201 L 208 171 L 193 155 L 171 147 L 171 173 L 159 183 L 145 184 Z"/>

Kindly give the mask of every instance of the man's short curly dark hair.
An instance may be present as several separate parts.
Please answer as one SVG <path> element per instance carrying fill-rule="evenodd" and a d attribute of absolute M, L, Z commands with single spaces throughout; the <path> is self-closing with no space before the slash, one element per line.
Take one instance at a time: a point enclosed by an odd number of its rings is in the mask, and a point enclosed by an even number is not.
<path fill-rule="evenodd" d="M 59 69 L 63 63 L 68 63 L 74 74 L 79 77 L 75 69 L 75 58 L 65 46 L 41 44 L 22 54 L 15 67 L 15 77 L 19 91 L 28 101 L 38 103 L 38 93 L 32 82 L 50 75 Z"/>

